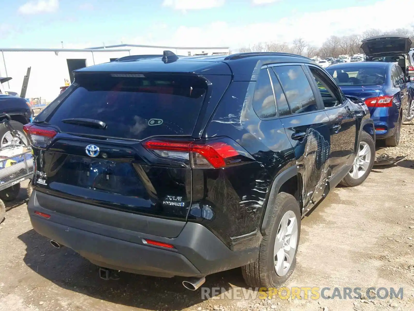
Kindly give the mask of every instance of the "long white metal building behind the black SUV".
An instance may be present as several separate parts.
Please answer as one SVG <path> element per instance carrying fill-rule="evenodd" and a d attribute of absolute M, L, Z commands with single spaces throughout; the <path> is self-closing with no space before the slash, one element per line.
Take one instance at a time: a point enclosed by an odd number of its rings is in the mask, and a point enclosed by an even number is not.
<path fill-rule="evenodd" d="M 107 63 L 128 55 L 161 55 L 169 50 L 177 55 L 218 55 L 228 54 L 227 47 L 172 47 L 120 44 L 99 46 L 89 49 L 2 49 L 0 48 L 0 77 L 12 80 L 3 86 L 6 90 L 20 94 L 24 75 L 31 67 L 26 98 L 41 98 L 51 102 L 65 85 L 65 80 L 73 81 L 72 71 Z"/>

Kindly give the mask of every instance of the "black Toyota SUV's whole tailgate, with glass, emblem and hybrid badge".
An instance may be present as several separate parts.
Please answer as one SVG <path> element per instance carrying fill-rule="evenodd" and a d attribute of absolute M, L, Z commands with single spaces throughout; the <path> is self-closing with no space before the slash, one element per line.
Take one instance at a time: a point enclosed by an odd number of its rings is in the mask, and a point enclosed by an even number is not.
<path fill-rule="evenodd" d="M 78 74 L 69 95 L 35 125 L 47 122 L 45 129 L 58 132 L 47 146 L 35 148 L 36 189 L 98 207 L 184 221 L 191 204 L 191 168 L 179 157 L 176 162 L 157 158 L 142 142 L 153 136 L 192 139 L 200 110 L 209 104 L 205 97 L 214 78 L 207 78 Z M 71 118 L 96 119 L 105 126 L 62 121 Z"/>

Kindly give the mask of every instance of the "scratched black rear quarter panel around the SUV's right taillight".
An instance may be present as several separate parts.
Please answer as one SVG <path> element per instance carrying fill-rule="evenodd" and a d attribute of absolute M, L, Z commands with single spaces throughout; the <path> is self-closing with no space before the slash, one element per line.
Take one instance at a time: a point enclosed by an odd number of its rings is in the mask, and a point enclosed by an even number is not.
<path fill-rule="evenodd" d="M 228 136 L 256 162 L 221 170 L 193 170 L 188 221 L 201 222 L 232 250 L 258 245 L 274 178 L 296 162 L 281 121 L 261 120 L 253 111 L 254 88 L 255 82 L 233 81 L 203 137 Z"/>

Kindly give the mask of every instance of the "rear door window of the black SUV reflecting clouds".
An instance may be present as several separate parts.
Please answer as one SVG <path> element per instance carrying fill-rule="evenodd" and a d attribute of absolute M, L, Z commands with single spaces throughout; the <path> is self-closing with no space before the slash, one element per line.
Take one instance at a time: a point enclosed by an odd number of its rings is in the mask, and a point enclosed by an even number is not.
<path fill-rule="evenodd" d="M 312 88 L 301 66 L 277 66 L 273 69 L 282 83 L 292 113 L 318 110 Z"/>

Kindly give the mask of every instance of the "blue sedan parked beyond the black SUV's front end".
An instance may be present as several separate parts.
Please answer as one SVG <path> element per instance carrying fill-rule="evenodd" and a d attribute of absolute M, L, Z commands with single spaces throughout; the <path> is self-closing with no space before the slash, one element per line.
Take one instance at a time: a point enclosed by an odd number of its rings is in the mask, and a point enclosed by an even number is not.
<path fill-rule="evenodd" d="M 376 138 L 385 139 L 387 146 L 397 146 L 411 96 L 400 66 L 370 61 L 336 64 L 326 70 L 345 95 L 360 97 L 368 106 Z"/>

